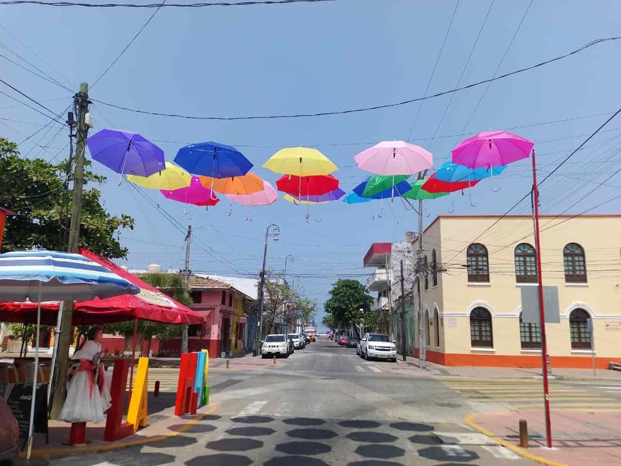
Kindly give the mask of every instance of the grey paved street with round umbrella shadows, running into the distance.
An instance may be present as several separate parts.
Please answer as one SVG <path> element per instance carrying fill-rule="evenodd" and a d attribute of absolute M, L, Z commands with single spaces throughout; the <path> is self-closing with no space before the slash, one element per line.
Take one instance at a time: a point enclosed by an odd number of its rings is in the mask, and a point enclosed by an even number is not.
<path fill-rule="evenodd" d="M 471 402 L 443 381 L 387 372 L 355 349 L 318 340 L 277 368 L 217 373 L 217 412 L 157 444 L 50 463 L 60 466 L 525 465 L 496 445 L 451 445 L 473 434 Z"/>

